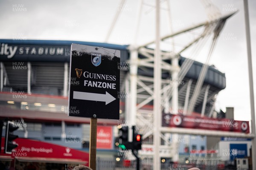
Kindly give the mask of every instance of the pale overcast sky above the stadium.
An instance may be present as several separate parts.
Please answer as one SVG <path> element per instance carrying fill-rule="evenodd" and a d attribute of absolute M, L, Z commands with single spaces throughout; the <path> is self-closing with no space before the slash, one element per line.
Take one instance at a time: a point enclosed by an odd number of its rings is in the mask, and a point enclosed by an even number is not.
<path fill-rule="evenodd" d="M 108 40 L 115 44 L 134 42 L 139 0 L 0 0 L 0 39 L 79 40 L 104 42 L 117 10 L 121 12 Z M 154 0 L 143 5 L 137 44 L 154 39 Z M 217 108 L 234 107 L 235 119 L 250 120 L 249 80 L 243 0 L 212 0 L 221 14 L 239 10 L 227 20 L 210 64 L 226 74 L 227 87 L 218 94 Z M 172 28 L 177 31 L 208 20 L 201 0 L 171 0 Z M 162 0 L 161 35 L 169 33 L 166 3 Z M 256 1 L 249 0 L 251 47 L 256 80 Z M 192 40 L 197 32 L 175 38 L 175 49 Z M 205 62 L 210 41 L 196 60 Z M 165 44 L 166 45 L 166 44 Z M 189 57 L 189 51 L 182 53 Z M 256 82 L 254 82 L 256 91 Z"/>

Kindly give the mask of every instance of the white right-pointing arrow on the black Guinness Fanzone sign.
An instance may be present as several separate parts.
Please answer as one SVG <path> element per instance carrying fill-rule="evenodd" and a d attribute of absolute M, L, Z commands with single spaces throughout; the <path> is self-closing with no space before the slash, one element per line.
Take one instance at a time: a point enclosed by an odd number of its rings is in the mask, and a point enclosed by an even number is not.
<path fill-rule="evenodd" d="M 108 105 L 108 103 L 113 102 L 116 98 L 114 98 L 107 91 L 106 91 L 106 94 L 97 94 L 97 93 L 87 93 L 87 92 L 81 92 L 81 91 L 74 91 L 73 92 L 73 99 L 105 102 L 105 104 Z"/>

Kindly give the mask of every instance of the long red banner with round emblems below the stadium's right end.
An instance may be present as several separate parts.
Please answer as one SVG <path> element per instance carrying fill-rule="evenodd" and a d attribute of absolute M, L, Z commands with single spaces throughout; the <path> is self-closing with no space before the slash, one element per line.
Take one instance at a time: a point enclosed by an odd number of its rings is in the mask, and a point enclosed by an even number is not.
<path fill-rule="evenodd" d="M 163 113 L 163 126 L 250 133 L 248 121 Z"/>

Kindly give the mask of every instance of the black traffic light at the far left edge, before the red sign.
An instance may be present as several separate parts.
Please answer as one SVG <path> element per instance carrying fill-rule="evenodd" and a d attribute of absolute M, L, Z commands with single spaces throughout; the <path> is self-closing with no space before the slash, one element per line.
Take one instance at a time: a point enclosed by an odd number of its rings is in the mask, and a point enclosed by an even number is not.
<path fill-rule="evenodd" d="M 17 144 L 13 144 L 13 140 L 18 138 L 19 136 L 13 135 L 13 131 L 17 130 L 19 127 L 15 126 L 15 124 L 11 121 L 6 123 L 6 136 L 5 136 L 5 145 L 4 152 L 12 153 L 12 150 L 17 147 Z"/>

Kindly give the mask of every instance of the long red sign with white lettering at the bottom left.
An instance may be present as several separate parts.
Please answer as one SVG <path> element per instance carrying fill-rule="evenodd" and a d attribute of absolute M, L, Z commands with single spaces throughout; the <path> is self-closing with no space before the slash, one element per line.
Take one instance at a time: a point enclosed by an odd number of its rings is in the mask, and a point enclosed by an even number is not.
<path fill-rule="evenodd" d="M 69 162 L 84 162 L 88 165 L 89 154 L 80 150 L 75 150 L 70 147 L 64 147 L 57 144 L 41 142 L 31 139 L 17 138 L 15 143 L 18 145 L 12 150 L 12 154 L 3 153 L 5 138 L 2 138 L 2 147 L 0 156 L 11 156 L 16 159 L 26 160 L 55 160 L 55 161 L 69 161 Z"/>

